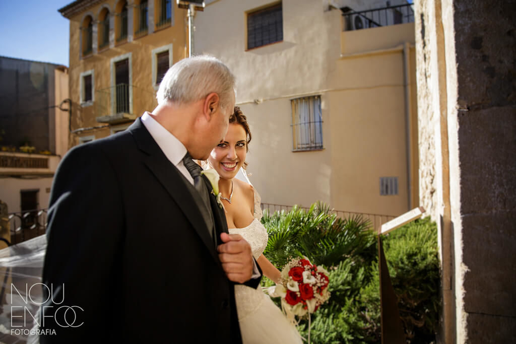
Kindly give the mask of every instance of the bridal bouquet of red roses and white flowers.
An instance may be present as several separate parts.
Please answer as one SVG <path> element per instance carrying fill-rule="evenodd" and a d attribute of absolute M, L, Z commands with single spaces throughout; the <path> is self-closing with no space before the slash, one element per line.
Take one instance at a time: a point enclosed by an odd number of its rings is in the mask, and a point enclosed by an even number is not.
<path fill-rule="evenodd" d="M 328 271 L 310 263 L 307 257 L 294 258 L 281 271 L 282 284 L 269 289 L 272 297 L 281 297 L 287 317 L 314 313 L 328 301 Z M 292 320 L 292 319 L 291 319 Z"/>

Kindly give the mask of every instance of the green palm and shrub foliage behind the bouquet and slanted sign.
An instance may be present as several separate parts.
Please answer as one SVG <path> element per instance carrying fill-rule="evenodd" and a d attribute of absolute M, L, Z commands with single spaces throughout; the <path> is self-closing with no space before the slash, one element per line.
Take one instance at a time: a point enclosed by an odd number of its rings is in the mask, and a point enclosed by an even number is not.
<path fill-rule="evenodd" d="M 311 317 L 313 343 L 380 343 L 376 235 L 361 217 L 337 218 L 329 207 L 265 212 L 265 256 L 283 267 L 306 255 L 329 271 L 330 300 Z M 432 343 L 439 319 L 437 227 L 429 218 L 411 222 L 382 240 L 408 343 Z M 264 279 L 263 285 L 272 285 Z M 279 301 L 279 300 L 275 300 Z M 308 318 L 299 332 L 308 335 Z"/>

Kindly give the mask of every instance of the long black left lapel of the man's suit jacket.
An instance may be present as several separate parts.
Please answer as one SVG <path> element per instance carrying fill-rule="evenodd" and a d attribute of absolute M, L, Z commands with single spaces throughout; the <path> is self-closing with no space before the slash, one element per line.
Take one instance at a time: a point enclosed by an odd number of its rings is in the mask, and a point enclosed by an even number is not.
<path fill-rule="evenodd" d="M 182 181 L 184 177 L 181 175 L 181 172 L 172 165 L 162 150 L 159 149 L 147 128 L 141 123 L 140 118 L 128 130 L 132 132 L 138 147 L 148 154 L 143 159 L 144 163 L 174 199 L 175 203 L 178 204 L 213 258 L 219 261 L 217 251 L 208 233 L 208 228 L 206 228 L 206 223 L 203 220 L 199 206 Z"/>

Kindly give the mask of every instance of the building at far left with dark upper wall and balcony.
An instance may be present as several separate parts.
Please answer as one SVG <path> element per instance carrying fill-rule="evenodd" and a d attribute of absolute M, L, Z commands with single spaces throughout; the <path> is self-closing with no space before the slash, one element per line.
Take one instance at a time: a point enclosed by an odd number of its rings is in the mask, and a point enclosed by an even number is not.
<path fill-rule="evenodd" d="M 0 236 L 17 243 L 42 234 L 22 234 L 21 222 L 44 223 L 37 214 L 49 206 L 53 176 L 68 151 L 68 69 L 0 57 L 0 80 Z"/>

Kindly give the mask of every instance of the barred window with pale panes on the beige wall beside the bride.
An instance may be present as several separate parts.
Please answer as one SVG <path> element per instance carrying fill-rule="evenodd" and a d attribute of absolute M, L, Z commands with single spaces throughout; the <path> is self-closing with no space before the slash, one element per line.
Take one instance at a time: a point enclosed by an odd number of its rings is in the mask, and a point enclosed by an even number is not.
<path fill-rule="evenodd" d="M 297 98 L 293 99 L 291 103 L 293 150 L 322 149 L 320 96 Z"/>

